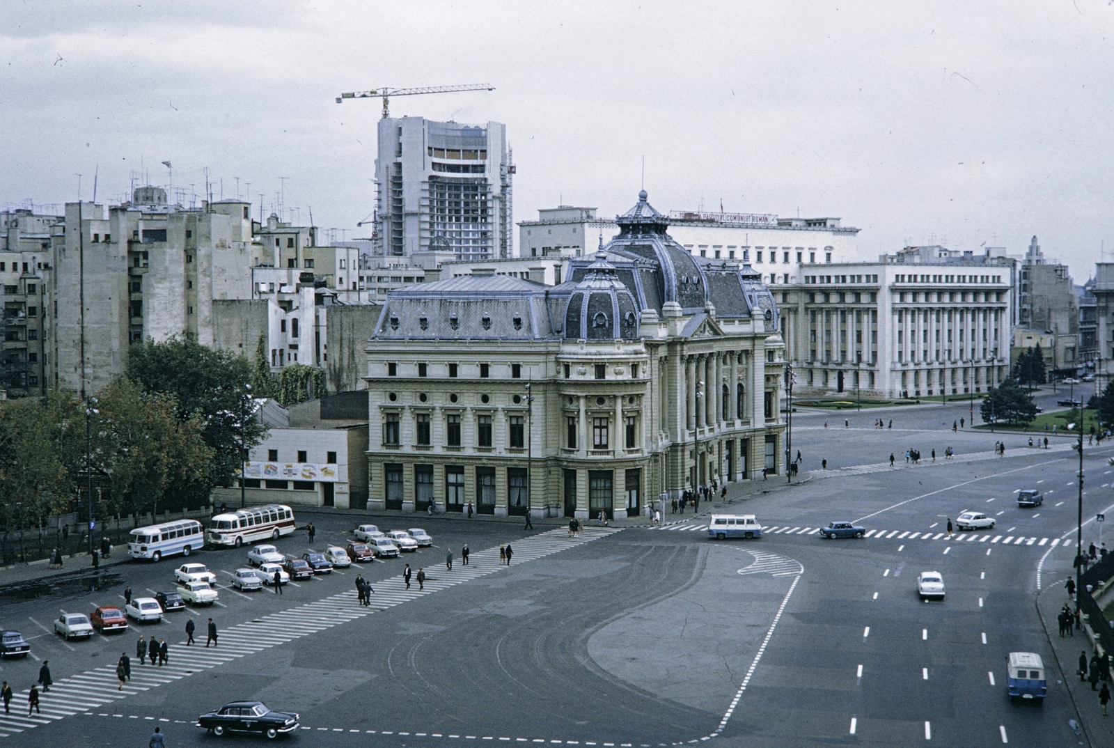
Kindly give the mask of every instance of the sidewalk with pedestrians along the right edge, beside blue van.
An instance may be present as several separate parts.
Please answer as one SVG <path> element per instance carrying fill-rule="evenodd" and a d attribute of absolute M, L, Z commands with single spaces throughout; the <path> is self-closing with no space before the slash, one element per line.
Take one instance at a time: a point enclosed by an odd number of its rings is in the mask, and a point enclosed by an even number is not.
<path fill-rule="evenodd" d="M 1053 633 L 1052 624 L 1056 623 L 1059 609 L 1068 602 L 1071 599 L 1067 596 L 1067 591 L 1064 590 L 1064 580 L 1057 580 L 1045 587 L 1036 600 L 1037 613 L 1040 615 L 1040 622 L 1044 624 L 1045 633 L 1052 644 L 1056 664 L 1059 666 L 1053 668 L 1052 662 L 1045 662 L 1046 677 L 1049 681 L 1048 698 L 1056 698 L 1057 694 L 1063 693 L 1052 683 L 1053 680 L 1063 678 L 1072 698 L 1075 713 L 1083 726 L 1082 739 L 1088 746 L 1114 746 L 1114 709 L 1111 708 L 1114 705 L 1107 706 L 1108 716 L 1104 718 L 1103 709 L 1098 705 L 1098 691 L 1092 691 L 1089 682 L 1079 682 L 1079 677 L 1076 674 L 1079 669 L 1079 652 L 1085 651 L 1088 660 L 1095 653 L 1095 647 L 1088 639 L 1087 626 L 1084 625 L 1082 630 L 1076 630 L 1074 637 L 1067 635 L 1063 639 L 1059 637 L 1058 625 L 1057 633 Z M 1102 688 L 1102 684 L 1097 688 Z"/>

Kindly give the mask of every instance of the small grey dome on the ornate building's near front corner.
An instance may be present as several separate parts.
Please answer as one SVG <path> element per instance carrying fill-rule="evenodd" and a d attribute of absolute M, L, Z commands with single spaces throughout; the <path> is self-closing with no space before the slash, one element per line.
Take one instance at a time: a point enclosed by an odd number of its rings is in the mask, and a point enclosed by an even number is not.
<path fill-rule="evenodd" d="M 570 340 L 634 339 L 638 305 L 604 254 L 587 266 L 565 308 L 565 338 Z"/>

